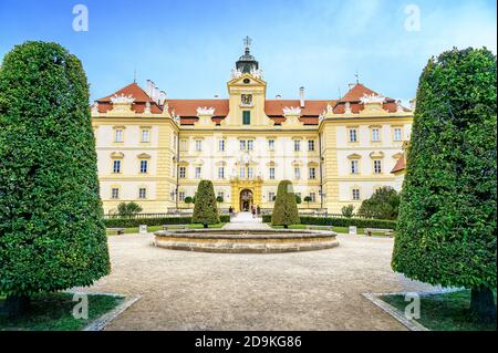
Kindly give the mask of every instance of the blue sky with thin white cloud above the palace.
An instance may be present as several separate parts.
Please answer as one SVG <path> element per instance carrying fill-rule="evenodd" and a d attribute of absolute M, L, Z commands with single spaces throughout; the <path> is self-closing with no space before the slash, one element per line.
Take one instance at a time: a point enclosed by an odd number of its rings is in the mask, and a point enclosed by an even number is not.
<path fill-rule="evenodd" d="M 75 4 L 89 31 L 75 32 Z M 419 31 L 407 31 L 407 6 Z M 497 51 L 495 0 L 0 0 L 0 58 L 27 40 L 55 41 L 83 62 L 92 97 L 152 79 L 172 98 L 227 95 L 242 38 L 268 98 L 336 98 L 360 81 L 393 98 L 416 93 L 428 58 L 453 46 Z M 413 13 L 413 12 L 412 12 Z"/>

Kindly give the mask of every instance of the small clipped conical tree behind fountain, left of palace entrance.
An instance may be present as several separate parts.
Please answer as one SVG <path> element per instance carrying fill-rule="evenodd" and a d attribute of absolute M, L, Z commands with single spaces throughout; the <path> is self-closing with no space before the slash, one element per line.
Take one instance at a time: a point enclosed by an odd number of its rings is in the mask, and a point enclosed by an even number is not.
<path fill-rule="evenodd" d="M 193 224 L 209 225 L 219 224 L 218 206 L 216 205 L 215 188 L 211 180 L 200 180 L 196 193 Z"/>

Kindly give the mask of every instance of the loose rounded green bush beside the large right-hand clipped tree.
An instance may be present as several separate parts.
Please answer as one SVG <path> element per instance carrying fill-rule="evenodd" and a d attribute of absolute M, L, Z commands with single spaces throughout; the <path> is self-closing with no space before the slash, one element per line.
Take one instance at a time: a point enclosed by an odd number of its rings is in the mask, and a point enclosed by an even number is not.
<path fill-rule="evenodd" d="M 400 194 L 388 186 L 375 190 L 357 210 L 360 216 L 377 219 L 396 219 L 400 211 Z"/>

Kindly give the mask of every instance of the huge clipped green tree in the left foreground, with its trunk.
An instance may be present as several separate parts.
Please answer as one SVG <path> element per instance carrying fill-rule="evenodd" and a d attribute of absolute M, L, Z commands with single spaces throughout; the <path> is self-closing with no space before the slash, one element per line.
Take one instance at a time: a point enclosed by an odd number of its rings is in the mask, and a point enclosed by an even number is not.
<path fill-rule="evenodd" d="M 0 292 L 18 314 L 108 272 L 82 64 L 55 43 L 18 45 L 0 69 Z"/>

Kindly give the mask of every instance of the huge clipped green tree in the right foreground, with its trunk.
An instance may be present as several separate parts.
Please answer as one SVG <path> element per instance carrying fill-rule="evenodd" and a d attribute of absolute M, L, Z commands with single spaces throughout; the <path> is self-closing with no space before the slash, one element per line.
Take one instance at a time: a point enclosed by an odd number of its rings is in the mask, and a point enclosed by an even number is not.
<path fill-rule="evenodd" d="M 496 74 L 486 49 L 425 68 L 392 261 L 408 278 L 470 289 L 480 321 L 496 320 Z"/>

